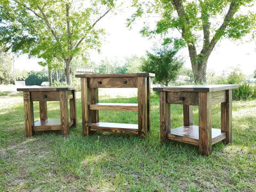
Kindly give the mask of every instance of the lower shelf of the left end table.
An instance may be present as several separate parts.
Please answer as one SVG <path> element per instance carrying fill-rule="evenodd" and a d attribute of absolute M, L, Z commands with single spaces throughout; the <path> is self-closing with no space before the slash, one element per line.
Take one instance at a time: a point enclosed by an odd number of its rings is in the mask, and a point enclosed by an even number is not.
<path fill-rule="evenodd" d="M 68 120 L 68 127 L 74 124 L 73 120 Z M 34 124 L 33 131 L 54 131 L 61 130 L 60 118 L 49 118 L 40 120 Z"/>

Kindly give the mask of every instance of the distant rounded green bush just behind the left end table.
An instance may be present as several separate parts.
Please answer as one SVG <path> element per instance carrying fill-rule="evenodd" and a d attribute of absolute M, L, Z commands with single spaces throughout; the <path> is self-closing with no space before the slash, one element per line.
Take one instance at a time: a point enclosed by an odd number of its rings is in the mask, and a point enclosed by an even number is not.
<path fill-rule="evenodd" d="M 26 85 L 41 85 L 42 82 L 48 81 L 46 71 L 31 71 L 28 73 L 28 78 L 25 80 Z"/>

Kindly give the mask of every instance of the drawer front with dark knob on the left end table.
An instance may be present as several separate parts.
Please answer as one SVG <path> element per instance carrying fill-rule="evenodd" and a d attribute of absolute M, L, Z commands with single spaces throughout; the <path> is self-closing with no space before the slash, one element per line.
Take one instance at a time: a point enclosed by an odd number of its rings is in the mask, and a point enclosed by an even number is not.
<path fill-rule="evenodd" d="M 33 101 L 60 100 L 59 92 L 30 92 Z"/>

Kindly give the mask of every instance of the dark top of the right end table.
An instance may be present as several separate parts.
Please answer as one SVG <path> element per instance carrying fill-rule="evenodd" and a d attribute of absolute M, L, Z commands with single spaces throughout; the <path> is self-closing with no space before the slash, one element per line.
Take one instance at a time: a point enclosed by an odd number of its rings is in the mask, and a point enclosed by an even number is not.
<path fill-rule="evenodd" d="M 200 84 L 200 85 L 181 85 L 170 87 L 156 87 L 158 92 L 218 92 L 222 90 L 232 90 L 238 88 L 238 84 Z"/>

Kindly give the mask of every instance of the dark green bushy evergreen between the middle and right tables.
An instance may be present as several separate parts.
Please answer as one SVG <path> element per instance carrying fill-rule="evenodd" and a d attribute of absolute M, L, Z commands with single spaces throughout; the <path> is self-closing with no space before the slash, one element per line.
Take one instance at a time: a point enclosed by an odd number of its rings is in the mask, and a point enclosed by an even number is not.
<path fill-rule="evenodd" d="M 147 59 L 143 62 L 141 69 L 144 72 L 151 72 L 156 74 L 154 81 L 164 86 L 172 81 L 175 81 L 179 70 L 182 67 L 182 61 L 175 58 L 178 50 L 170 49 L 170 47 L 163 47 L 162 49 L 155 49 L 154 54 L 147 52 Z"/>

